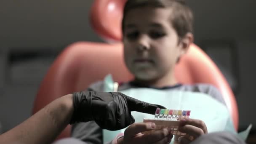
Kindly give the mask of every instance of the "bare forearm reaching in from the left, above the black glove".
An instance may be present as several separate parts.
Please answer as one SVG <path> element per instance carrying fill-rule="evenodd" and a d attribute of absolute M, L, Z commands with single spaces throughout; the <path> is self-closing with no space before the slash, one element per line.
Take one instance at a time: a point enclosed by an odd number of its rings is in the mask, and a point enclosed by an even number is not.
<path fill-rule="evenodd" d="M 0 143 L 51 143 L 69 124 L 73 110 L 72 94 L 56 99 L 20 125 L 2 134 Z"/>

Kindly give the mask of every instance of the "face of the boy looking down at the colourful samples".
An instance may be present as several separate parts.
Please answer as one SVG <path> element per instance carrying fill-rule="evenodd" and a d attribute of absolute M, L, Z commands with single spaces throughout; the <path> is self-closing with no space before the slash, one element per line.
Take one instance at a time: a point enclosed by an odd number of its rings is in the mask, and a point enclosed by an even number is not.
<path fill-rule="evenodd" d="M 171 8 L 140 7 L 126 14 L 125 64 L 139 80 L 173 75 L 177 59 L 187 50 L 171 24 Z M 182 41 L 182 40 L 181 40 Z"/>

